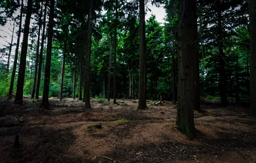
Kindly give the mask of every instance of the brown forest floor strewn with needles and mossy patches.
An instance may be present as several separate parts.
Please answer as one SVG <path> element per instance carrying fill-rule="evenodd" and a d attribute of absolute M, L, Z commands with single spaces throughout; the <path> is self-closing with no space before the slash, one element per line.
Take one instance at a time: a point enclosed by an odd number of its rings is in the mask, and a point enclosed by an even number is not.
<path fill-rule="evenodd" d="M 28 97 L 22 106 L 12 103 L 0 103 L 0 163 L 256 162 L 256 118 L 241 106 L 203 103 L 190 140 L 177 130 L 170 101 L 148 101 L 146 110 L 135 100 L 116 105 L 92 99 L 90 110 L 72 99 L 50 99 L 56 110 L 39 109 L 40 101 Z M 20 146 L 13 147 L 16 135 Z"/>

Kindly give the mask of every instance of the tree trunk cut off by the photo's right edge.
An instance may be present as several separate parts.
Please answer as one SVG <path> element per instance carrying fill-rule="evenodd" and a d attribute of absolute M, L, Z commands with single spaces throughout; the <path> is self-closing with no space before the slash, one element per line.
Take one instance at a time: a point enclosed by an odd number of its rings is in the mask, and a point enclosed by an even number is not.
<path fill-rule="evenodd" d="M 256 117 L 256 1 L 249 2 L 249 27 L 250 27 L 250 111 L 249 115 Z"/>

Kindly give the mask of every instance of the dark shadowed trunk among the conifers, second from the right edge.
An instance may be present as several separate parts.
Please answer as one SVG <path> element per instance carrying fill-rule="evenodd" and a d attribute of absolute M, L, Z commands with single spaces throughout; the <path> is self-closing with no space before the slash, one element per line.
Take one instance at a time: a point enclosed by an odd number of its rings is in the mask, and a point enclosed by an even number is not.
<path fill-rule="evenodd" d="M 218 19 L 221 19 L 221 10 L 220 10 L 220 0 L 217 0 L 216 2 L 216 9 L 218 13 Z M 219 62 L 220 62 L 220 71 L 219 71 L 219 93 L 220 93 L 220 99 L 223 106 L 227 106 L 228 99 L 227 99 L 227 88 L 226 88 L 226 70 L 225 70 L 225 54 L 223 51 L 223 42 L 222 42 L 222 24 L 221 21 L 218 21 L 218 46 L 219 46 Z"/>

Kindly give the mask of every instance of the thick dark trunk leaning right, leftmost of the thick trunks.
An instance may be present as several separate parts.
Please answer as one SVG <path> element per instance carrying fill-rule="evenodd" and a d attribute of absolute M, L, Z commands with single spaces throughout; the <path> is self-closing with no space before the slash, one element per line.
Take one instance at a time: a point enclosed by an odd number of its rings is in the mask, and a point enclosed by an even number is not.
<path fill-rule="evenodd" d="M 32 14 L 32 3 L 33 3 L 33 0 L 27 1 L 27 14 L 26 14 L 26 19 L 24 24 L 24 34 L 23 34 L 23 41 L 22 41 L 22 47 L 21 47 L 20 66 L 18 71 L 17 91 L 16 91 L 16 96 L 14 101 L 15 104 L 23 103 L 23 86 L 24 86 L 26 59 L 27 59 L 27 41 L 28 41 L 28 34 L 29 34 L 30 18 Z"/>

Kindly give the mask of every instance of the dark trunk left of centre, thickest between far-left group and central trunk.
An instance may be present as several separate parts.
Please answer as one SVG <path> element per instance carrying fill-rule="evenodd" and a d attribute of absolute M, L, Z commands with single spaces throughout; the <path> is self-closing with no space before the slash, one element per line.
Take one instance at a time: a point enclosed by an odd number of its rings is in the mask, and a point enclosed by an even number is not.
<path fill-rule="evenodd" d="M 90 0 L 90 9 L 88 15 L 88 34 L 86 48 L 86 69 L 85 69 L 85 108 L 91 109 L 90 103 L 90 63 L 91 63 L 91 33 L 92 33 L 92 5 L 93 0 Z"/>

